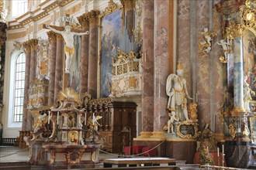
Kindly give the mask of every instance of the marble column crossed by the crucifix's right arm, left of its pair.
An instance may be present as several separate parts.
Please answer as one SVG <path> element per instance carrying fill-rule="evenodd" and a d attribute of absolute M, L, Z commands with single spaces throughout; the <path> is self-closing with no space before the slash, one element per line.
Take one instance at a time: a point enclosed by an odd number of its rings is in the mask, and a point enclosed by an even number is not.
<path fill-rule="evenodd" d="M 81 27 L 84 31 L 89 30 L 89 21 L 87 13 L 78 17 L 78 21 L 81 23 Z M 80 59 L 80 81 L 79 81 L 79 94 L 82 96 L 88 91 L 88 56 L 89 56 L 89 36 L 81 36 L 81 59 Z"/>

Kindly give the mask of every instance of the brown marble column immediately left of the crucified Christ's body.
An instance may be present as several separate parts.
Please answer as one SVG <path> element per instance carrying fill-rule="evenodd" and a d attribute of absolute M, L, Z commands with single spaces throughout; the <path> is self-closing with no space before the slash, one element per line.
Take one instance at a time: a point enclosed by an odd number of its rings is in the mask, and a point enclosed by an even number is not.
<path fill-rule="evenodd" d="M 64 45 L 61 34 L 57 34 L 57 46 L 56 46 L 56 65 L 55 65 L 55 80 L 54 80 L 54 102 L 57 101 L 57 94 L 62 90 L 63 80 L 63 60 L 64 60 Z"/>

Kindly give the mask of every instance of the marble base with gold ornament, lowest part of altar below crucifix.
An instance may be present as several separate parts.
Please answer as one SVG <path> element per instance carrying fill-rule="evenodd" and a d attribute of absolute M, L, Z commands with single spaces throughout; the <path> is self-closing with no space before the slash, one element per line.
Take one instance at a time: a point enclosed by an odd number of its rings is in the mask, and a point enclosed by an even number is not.
<path fill-rule="evenodd" d="M 99 148 L 102 148 L 102 145 L 45 143 L 42 145 L 42 148 L 47 152 L 47 165 L 54 167 L 95 168 L 95 163 L 99 163 Z"/>

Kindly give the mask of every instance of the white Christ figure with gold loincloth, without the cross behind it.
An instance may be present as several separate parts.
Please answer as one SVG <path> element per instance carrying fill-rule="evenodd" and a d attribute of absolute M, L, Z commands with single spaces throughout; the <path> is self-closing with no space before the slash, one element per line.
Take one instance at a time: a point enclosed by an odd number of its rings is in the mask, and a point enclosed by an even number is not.
<path fill-rule="evenodd" d="M 60 33 L 61 36 L 64 38 L 65 47 L 64 52 L 66 54 L 66 60 L 65 60 L 65 73 L 70 73 L 70 66 L 71 66 L 71 59 L 74 55 L 74 35 L 82 36 L 82 35 L 88 35 L 87 32 L 71 32 L 71 26 L 65 26 L 64 31 L 60 31 L 57 29 L 54 29 L 52 26 L 46 25 L 47 29 L 50 29 L 54 32 Z"/>

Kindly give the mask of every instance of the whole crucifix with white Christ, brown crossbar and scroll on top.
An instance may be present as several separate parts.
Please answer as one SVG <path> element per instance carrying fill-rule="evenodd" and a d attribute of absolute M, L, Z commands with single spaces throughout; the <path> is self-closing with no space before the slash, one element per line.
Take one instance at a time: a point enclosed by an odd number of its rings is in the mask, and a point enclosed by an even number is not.
<path fill-rule="evenodd" d="M 74 55 L 74 36 L 82 36 L 88 35 L 89 32 L 84 32 L 79 29 L 71 29 L 69 22 L 74 21 L 73 18 L 69 17 L 68 15 L 64 17 L 65 26 L 50 26 L 50 25 L 43 25 L 44 29 L 50 29 L 53 32 L 60 33 L 61 36 L 64 38 L 65 46 L 64 46 L 64 53 L 66 55 L 65 59 L 65 73 L 70 73 L 70 66 L 72 61 L 72 56 Z"/>

